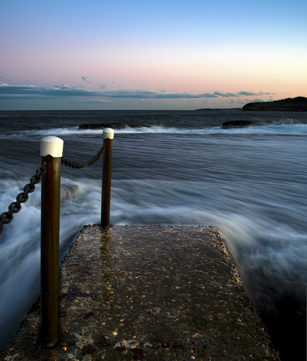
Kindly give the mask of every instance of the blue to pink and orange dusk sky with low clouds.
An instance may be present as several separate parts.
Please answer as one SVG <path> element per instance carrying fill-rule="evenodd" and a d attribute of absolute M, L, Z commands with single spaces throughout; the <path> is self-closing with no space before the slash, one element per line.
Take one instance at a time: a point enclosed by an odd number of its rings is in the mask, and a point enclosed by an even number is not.
<path fill-rule="evenodd" d="M 0 110 L 307 96 L 306 15 L 306 0 L 3 0 Z"/>

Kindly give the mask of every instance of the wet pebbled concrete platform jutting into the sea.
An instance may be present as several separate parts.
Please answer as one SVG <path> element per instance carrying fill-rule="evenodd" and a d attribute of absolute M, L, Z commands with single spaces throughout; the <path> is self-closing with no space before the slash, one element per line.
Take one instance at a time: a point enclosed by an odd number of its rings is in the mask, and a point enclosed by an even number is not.
<path fill-rule="evenodd" d="M 280 360 L 213 227 L 85 226 L 59 307 L 55 348 L 37 303 L 0 360 Z"/>

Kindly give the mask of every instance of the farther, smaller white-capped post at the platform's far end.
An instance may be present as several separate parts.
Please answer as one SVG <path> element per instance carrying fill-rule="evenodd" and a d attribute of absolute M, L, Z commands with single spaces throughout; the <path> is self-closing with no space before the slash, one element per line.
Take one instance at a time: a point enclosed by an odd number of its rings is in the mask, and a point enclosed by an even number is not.
<path fill-rule="evenodd" d="M 112 147 L 114 130 L 103 129 L 103 142 L 109 139 L 108 145 L 103 152 L 102 162 L 102 192 L 101 192 L 101 226 L 110 226 L 110 200 L 111 200 L 111 173 L 112 173 Z"/>

